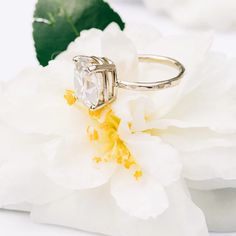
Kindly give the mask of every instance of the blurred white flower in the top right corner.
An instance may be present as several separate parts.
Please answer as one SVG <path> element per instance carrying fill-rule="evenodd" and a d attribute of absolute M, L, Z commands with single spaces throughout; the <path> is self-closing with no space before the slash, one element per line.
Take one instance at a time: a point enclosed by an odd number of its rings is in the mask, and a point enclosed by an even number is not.
<path fill-rule="evenodd" d="M 187 26 L 230 29 L 236 24 L 234 0 L 144 0 L 152 11 L 167 13 Z"/>

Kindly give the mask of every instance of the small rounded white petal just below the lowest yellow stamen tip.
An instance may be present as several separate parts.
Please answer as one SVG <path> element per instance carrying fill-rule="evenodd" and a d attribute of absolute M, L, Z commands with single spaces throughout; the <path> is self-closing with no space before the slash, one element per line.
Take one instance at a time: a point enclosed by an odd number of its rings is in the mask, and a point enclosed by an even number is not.
<path fill-rule="evenodd" d="M 168 208 L 165 189 L 147 173 L 135 180 L 129 171 L 119 171 L 111 179 L 111 194 L 117 205 L 141 219 L 157 217 Z"/>

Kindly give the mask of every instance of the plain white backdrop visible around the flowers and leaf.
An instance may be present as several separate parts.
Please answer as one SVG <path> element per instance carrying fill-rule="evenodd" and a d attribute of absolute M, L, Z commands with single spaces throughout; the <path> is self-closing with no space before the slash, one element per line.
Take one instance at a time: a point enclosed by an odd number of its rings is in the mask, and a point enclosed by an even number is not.
<path fill-rule="evenodd" d="M 146 22 L 155 25 L 164 35 L 181 33 L 180 28 L 163 16 L 156 16 L 143 8 L 141 3 L 128 4 L 115 1 L 113 7 L 125 22 Z M 8 80 L 25 66 L 35 65 L 35 53 L 31 36 L 31 21 L 35 0 L 8 0 L 1 4 L 0 14 L 0 63 L 1 80 Z M 236 31 L 215 32 L 213 49 L 229 56 L 236 56 Z M 85 232 L 56 226 L 34 224 L 28 214 L 0 211 L 0 235 L 3 236 L 91 236 Z M 214 235 L 214 234 L 212 234 Z M 162 235 L 164 236 L 164 235 Z M 174 236 L 174 235 L 173 235 Z M 215 236 L 215 235 L 214 235 Z M 220 234 L 219 236 L 236 236 Z"/>

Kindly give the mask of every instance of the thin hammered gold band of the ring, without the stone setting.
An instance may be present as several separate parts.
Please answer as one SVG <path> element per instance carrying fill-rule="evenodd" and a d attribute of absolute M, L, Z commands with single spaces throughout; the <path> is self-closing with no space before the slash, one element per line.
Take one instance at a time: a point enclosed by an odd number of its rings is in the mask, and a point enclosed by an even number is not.
<path fill-rule="evenodd" d="M 175 68 L 179 71 L 178 75 L 167 80 L 161 80 L 156 82 L 129 82 L 129 81 L 117 81 L 117 87 L 123 89 L 132 89 L 138 91 L 150 91 L 150 90 L 160 90 L 166 89 L 179 84 L 181 78 L 184 75 L 185 68 L 177 60 L 165 57 L 165 56 L 156 56 L 156 55 L 139 55 L 138 57 L 140 62 L 144 63 L 158 63 L 162 65 L 167 65 L 169 67 Z"/>

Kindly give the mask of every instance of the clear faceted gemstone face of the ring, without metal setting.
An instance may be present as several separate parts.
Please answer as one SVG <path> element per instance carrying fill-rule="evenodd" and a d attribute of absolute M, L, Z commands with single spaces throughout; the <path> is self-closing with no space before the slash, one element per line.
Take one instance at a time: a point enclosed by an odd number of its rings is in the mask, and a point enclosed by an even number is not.
<path fill-rule="evenodd" d="M 100 73 L 89 73 L 89 65 L 91 61 L 88 59 L 81 59 L 77 64 L 74 77 L 75 94 L 85 106 L 94 108 L 99 105 L 102 77 Z"/>

